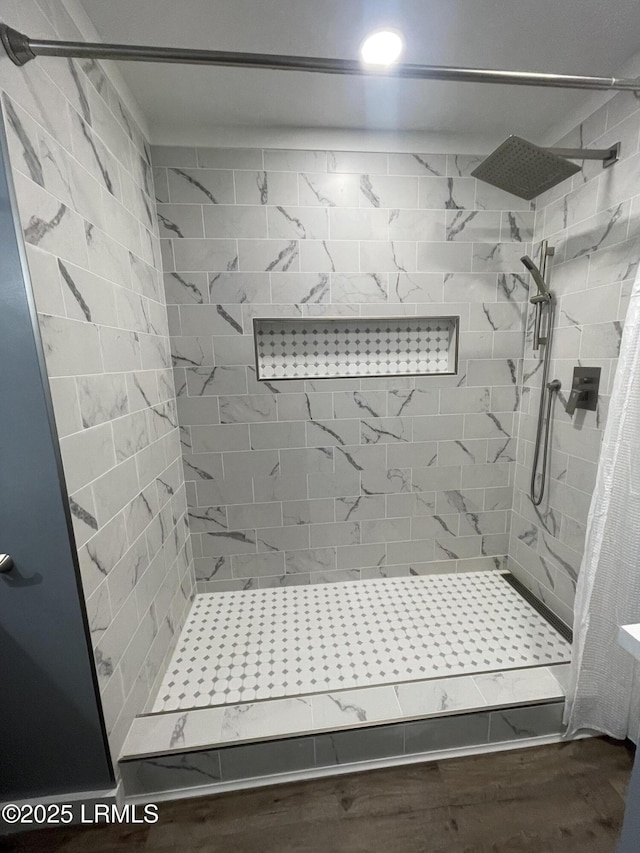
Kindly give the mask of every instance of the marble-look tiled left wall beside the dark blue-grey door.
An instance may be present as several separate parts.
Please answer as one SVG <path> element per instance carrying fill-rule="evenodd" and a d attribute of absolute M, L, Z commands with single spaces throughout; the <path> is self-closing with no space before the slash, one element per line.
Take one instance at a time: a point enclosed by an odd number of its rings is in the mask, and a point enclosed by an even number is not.
<path fill-rule="evenodd" d="M 2 0 L 82 40 L 59 2 Z M 193 591 L 149 147 L 95 62 L 0 58 L 2 108 L 117 757 Z"/>

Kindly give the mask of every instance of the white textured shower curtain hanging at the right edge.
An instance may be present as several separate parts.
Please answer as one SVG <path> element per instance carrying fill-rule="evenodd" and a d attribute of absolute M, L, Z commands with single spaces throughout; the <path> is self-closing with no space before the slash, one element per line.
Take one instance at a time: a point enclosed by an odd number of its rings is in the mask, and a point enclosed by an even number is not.
<path fill-rule="evenodd" d="M 580 433 L 576 431 L 576 442 Z M 640 668 L 617 644 L 640 622 L 640 269 L 625 320 L 576 592 L 569 733 L 638 741 Z"/>

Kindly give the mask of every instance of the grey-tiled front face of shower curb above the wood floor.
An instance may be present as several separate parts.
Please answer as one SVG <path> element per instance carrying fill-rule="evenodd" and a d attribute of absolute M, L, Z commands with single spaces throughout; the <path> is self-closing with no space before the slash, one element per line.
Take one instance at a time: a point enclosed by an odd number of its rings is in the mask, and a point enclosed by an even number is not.
<path fill-rule="evenodd" d="M 243 780 L 254 780 L 258 785 L 277 781 L 282 774 L 313 775 L 314 771 L 330 772 L 331 768 L 340 772 L 340 768 L 360 762 L 405 763 L 411 756 L 429 761 L 443 751 L 515 749 L 519 744 L 530 745 L 536 738 L 548 742 L 563 734 L 563 708 L 564 701 L 556 701 L 263 740 L 121 761 L 120 770 L 127 797 L 211 793 L 216 786 L 229 789 Z"/>

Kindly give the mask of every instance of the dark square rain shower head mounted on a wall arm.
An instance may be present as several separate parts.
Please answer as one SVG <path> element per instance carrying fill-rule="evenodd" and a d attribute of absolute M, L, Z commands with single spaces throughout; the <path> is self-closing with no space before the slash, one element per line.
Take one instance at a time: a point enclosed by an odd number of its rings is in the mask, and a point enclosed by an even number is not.
<path fill-rule="evenodd" d="M 580 171 L 571 163 L 519 136 L 510 136 L 471 173 L 474 178 L 530 201 Z"/>

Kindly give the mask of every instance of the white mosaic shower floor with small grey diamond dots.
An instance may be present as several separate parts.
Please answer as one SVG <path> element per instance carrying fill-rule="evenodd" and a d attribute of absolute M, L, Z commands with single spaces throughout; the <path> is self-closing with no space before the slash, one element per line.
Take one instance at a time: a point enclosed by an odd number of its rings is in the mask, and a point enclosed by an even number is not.
<path fill-rule="evenodd" d="M 200 593 L 152 713 L 570 660 L 501 574 Z"/>

